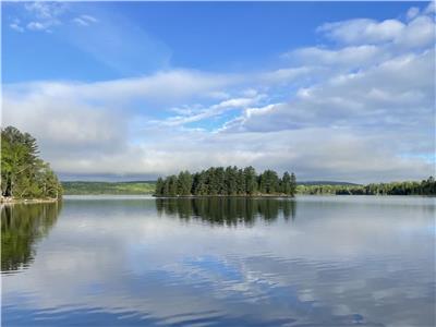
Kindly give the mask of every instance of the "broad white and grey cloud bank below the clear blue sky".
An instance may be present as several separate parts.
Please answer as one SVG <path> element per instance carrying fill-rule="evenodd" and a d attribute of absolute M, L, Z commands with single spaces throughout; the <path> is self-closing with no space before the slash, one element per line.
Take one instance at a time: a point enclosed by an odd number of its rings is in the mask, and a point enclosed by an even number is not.
<path fill-rule="evenodd" d="M 282 53 L 275 70 L 3 85 L 2 124 L 34 134 L 64 177 L 253 165 L 300 180 L 426 178 L 435 172 L 434 5 L 404 16 L 326 23 L 315 32 L 324 44 Z"/>

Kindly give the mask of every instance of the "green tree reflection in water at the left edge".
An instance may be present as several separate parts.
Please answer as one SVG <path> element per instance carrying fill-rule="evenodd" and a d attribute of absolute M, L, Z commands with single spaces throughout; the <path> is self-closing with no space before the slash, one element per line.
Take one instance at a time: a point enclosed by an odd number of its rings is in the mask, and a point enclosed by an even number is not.
<path fill-rule="evenodd" d="M 1 206 L 1 271 L 26 268 L 35 257 L 35 243 L 53 227 L 61 203 Z"/>

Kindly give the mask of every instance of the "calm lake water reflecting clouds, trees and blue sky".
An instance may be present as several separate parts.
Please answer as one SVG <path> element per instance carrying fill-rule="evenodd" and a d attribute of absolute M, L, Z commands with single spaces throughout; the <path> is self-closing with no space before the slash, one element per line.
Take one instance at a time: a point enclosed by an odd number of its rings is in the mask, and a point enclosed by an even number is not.
<path fill-rule="evenodd" d="M 3 207 L 3 326 L 434 326 L 434 198 Z"/>

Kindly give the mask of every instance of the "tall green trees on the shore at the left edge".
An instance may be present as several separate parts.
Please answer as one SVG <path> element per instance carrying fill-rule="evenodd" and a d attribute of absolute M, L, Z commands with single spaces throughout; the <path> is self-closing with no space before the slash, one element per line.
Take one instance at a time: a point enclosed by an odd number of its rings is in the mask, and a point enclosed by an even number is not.
<path fill-rule="evenodd" d="M 60 198 L 62 186 L 39 157 L 35 137 L 13 126 L 1 130 L 2 198 Z"/>

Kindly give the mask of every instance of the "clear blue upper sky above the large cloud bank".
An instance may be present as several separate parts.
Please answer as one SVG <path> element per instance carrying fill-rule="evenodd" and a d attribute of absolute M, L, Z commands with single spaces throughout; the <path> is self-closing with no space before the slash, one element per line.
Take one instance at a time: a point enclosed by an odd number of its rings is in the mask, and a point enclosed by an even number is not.
<path fill-rule="evenodd" d="M 426 3 L 108 2 L 59 7 L 63 8 L 59 20 L 64 22 L 47 27 L 51 33 L 16 33 L 8 25 L 22 16 L 32 22 L 34 16 L 23 4 L 3 3 L 4 83 L 48 78 L 102 81 L 170 68 L 226 73 L 275 68 L 283 52 L 329 44 L 316 33 L 325 22 L 401 19 L 409 8 L 425 8 Z M 99 23 L 90 28 L 74 23 L 83 13 L 98 17 Z M 24 27 L 28 22 L 22 20 Z M 122 45 L 108 45 L 110 33 L 116 33 Z M 89 44 L 77 41 L 82 38 Z M 93 53 L 90 47 L 100 53 Z M 111 58 L 102 53 L 108 49 L 117 55 L 112 65 L 98 58 Z"/>

